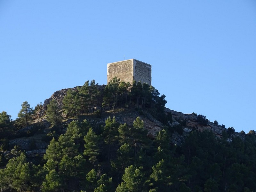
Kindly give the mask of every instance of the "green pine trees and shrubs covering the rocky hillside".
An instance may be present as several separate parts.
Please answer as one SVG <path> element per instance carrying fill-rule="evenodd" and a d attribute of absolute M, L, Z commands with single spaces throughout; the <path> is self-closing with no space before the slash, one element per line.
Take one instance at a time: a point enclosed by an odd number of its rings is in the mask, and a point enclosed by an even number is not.
<path fill-rule="evenodd" d="M 65 133 L 60 134 L 65 121 L 56 101 L 47 106 L 52 129 L 45 133 L 50 143 L 43 158 L 28 159 L 18 146 L 4 156 L 12 147 L 9 140 L 18 137 L 17 129 L 30 124 L 30 105 L 23 103 L 15 121 L 0 113 L 1 191 L 256 191 L 255 131 L 243 132 L 244 140 L 232 137 L 232 127 L 221 139 L 209 131 L 193 131 L 182 145 L 172 145 L 174 130 L 167 123 L 171 114 L 164 114 L 165 96 L 148 84 L 131 85 L 116 78 L 105 88 L 103 106 L 134 107 L 141 116 L 160 120 L 164 129 L 151 140 L 140 117 L 132 126 L 117 123 L 115 117 L 94 126 L 80 115 L 91 113 L 99 94 L 95 85 L 87 81 L 63 100 L 63 111 L 79 119 L 70 121 Z M 102 116 L 101 111 L 96 115 Z M 205 124 L 205 116 L 198 116 L 198 123 Z M 40 132 L 43 127 L 37 126 Z"/>

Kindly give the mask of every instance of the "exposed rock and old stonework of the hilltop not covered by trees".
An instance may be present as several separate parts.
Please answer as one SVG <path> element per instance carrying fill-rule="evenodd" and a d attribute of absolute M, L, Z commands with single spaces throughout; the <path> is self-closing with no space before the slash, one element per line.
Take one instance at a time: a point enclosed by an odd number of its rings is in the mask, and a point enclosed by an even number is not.
<path fill-rule="evenodd" d="M 38 126 L 38 124 L 40 124 L 41 126 L 45 127 L 44 128 L 44 132 L 48 132 L 49 130 L 51 130 L 51 124 L 47 121 L 47 117 L 45 116 L 45 111 L 47 109 L 47 105 L 50 103 L 51 100 L 56 100 L 58 102 L 58 107 L 59 109 L 61 109 L 63 107 L 63 98 L 67 95 L 68 91 L 77 91 L 77 88 L 81 88 L 82 86 L 78 86 L 78 87 L 74 87 L 74 88 L 66 88 L 66 89 L 62 89 L 59 91 L 56 91 L 52 94 L 52 96 L 48 99 L 46 99 L 42 105 L 42 108 L 40 108 L 40 110 L 38 110 L 36 112 L 36 119 L 32 121 L 31 126 L 22 128 L 20 130 L 17 131 L 17 135 L 23 133 L 25 134 L 26 132 L 28 132 L 28 130 L 33 130 L 34 126 Z M 90 124 L 92 124 L 93 126 L 99 127 L 100 125 L 105 123 L 105 120 L 110 116 L 116 117 L 116 122 L 120 123 L 120 124 L 128 124 L 129 126 L 132 126 L 133 121 L 140 116 L 141 119 L 143 119 L 144 121 L 144 126 L 145 129 L 147 129 L 148 131 L 148 137 L 151 139 L 155 139 L 156 138 L 156 134 L 163 130 L 164 128 L 164 124 L 162 122 L 160 122 L 159 120 L 157 120 L 156 118 L 154 118 L 151 114 L 149 114 L 148 112 L 144 111 L 138 111 L 136 110 L 135 107 L 131 107 L 131 108 L 118 108 L 115 111 L 113 110 L 107 110 L 107 108 L 102 108 L 102 103 L 103 103 L 103 91 L 104 88 L 106 87 L 106 85 L 97 85 L 97 89 L 100 91 L 99 95 L 97 96 L 97 100 L 95 100 L 94 105 L 92 106 L 92 113 L 90 115 L 81 115 L 79 116 L 79 118 L 72 118 L 72 119 L 67 119 L 66 121 L 64 121 L 63 126 L 66 127 L 67 124 L 72 121 L 72 120 L 83 120 L 86 119 L 88 122 L 90 122 Z M 96 111 L 100 110 L 100 117 L 93 114 Z M 172 137 L 170 137 L 170 144 L 172 145 L 181 145 L 186 136 L 188 136 L 188 134 L 192 131 L 212 131 L 217 137 L 221 138 L 222 137 L 222 132 L 225 131 L 227 132 L 228 129 L 226 129 L 225 127 L 218 125 L 216 123 L 207 121 L 207 124 L 202 125 L 197 118 L 196 114 L 183 114 L 181 112 L 177 112 L 174 110 L 171 110 L 169 108 L 164 108 L 164 114 L 172 114 L 172 122 L 168 122 L 168 126 L 170 126 L 171 128 L 173 128 L 173 132 L 172 132 Z M 63 114 L 65 116 L 65 114 Z M 176 128 L 174 130 L 174 128 Z M 65 130 L 65 129 L 64 129 Z M 62 133 L 64 133 L 65 131 L 63 131 Z M 242 138 L 244 140 L 244 135 L 240 134 L 238 132 L 234 132 L 232 133 L 233 136 L 239 136 L 240 138 Z M 41 136 L 44 136 L 44 134 L 42 134 Z M 38 137 L 38 136 L 37 136 Z M 35 138 L 37 138 L 35 137 Z M 32 154 L 32 156 L 34 156 L 37 153 L 40 153 L 41 155 L 43 155 L 46 152 L 46 147 L 47 147 L 47 142 L 39 142 L 39 140 L 37 140 L 37 142 L 39 144 L 36 144 L 36 148 L 35 150 L 29 150 L 29 145 L 30 145 L 30 140 L 32 139 L 33 141 L 33 136 L 30 137 L 30 139 L 28 139 L 28 137 L 25 138 L 18 138 L 18 139 L 14 139 L 10 141 L 10 144 L 12 146 L 14 145 L 18 145 L 20 146 L 20 148 L 22 150 L 26 150 L 27 154 L 30 155 Z"/>

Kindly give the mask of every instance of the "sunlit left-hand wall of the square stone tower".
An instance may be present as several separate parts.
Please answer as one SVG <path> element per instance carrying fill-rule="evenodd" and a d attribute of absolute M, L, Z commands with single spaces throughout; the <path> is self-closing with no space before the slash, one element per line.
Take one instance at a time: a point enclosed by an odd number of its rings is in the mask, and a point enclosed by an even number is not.
<path fill-rule="evenodd" d="M 114 77 L 121 79 L 121 82 L 133 81 L 133 60 L 119 61 L 108 63 L 107 65 L 107 81 L 110 82 Z"/>

